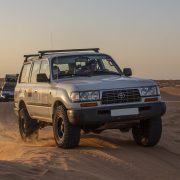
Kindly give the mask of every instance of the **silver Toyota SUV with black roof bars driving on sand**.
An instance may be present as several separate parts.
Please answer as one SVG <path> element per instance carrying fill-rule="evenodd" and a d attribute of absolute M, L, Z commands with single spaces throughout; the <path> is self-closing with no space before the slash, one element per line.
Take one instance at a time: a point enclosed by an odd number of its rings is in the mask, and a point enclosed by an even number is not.
<path fill-rule="evenodd" d="M 25 55 L 15 89 L 22 139 L 38 138 L 53 126 L 58 147 L 74 148 L 80 131 L 128 132 L 135 142 L 154 146 L 161 137 L 166 105 L 152 80 L 132 78 L 98 48 L 39 51 Z"/>

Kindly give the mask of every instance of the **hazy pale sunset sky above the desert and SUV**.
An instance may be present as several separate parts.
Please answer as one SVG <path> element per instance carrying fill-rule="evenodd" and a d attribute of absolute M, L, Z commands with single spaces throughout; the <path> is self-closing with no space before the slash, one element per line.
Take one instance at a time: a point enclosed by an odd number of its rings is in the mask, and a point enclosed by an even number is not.
<path fill-rule="evenodd" d="M 1 0 L 0 77 L 26 53 L 88 47 L 135 76 L 180 79 L 180 0 Z"/>

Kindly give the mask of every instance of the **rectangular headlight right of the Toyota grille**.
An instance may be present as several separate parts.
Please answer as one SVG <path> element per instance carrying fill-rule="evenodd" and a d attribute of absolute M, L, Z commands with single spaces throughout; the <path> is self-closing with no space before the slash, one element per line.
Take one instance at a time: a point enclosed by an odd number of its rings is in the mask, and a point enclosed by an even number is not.
<path fill-rule="evenodd" d="M 140 94 L 141 94 L 142 97 L 158 96 L 158 95 L 160 95 L 157 86 L 140 88 Z"/>

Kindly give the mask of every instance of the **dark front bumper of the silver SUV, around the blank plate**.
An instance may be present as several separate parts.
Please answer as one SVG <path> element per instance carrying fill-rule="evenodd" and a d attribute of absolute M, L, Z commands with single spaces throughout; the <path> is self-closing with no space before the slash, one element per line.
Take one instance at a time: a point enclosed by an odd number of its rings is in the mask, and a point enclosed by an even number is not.
<path fill-rule="evenodd" d="M 111 110 L 138 108 L 138 115 L 111 116 Z M 96 107 L 82 110 L 68 110 L 67 115 L 70 123 L 78 126 L 85 125 L 103 125 L 111 122 L 129 123 L 137 120 L 147 120 L 153 117 L 160 117 L 166 112 L 164 102 L 118 105 L 108 107 Z"/>

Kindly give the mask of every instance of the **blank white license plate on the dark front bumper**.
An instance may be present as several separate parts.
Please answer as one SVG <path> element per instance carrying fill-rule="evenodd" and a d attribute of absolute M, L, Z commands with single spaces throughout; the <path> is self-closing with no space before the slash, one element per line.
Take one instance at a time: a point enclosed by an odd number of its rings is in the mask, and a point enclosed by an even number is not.
<path fill-rule="evenodd" d="M 111 110 L 111 116 L 130 116 L 130 115 L 138 115 L 139 109 L 138 108 L 127 108 L 127 109 L 114 109 Z"/>

